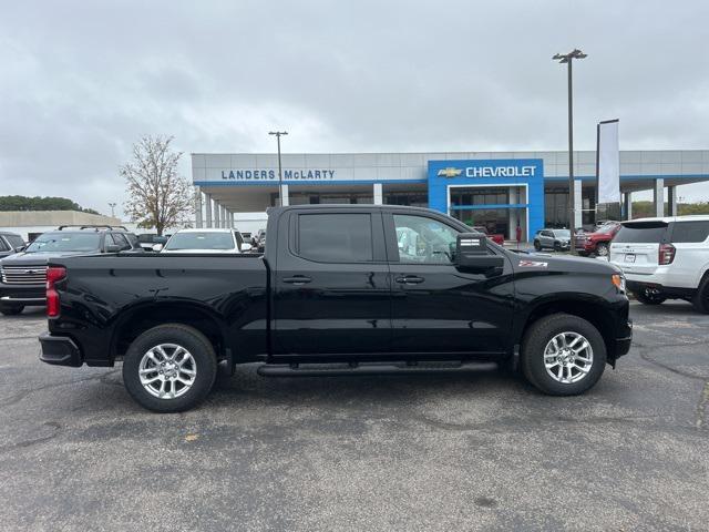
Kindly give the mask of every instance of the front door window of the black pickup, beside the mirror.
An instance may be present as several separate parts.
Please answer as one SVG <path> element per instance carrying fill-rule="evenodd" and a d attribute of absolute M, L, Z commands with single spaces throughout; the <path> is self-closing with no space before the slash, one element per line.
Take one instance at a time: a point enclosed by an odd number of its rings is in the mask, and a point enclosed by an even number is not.
<path fill-rule="evenodd" d="M 451 264 L 458 232 L 425 216 L 394 214 L 400 263 Z"/>

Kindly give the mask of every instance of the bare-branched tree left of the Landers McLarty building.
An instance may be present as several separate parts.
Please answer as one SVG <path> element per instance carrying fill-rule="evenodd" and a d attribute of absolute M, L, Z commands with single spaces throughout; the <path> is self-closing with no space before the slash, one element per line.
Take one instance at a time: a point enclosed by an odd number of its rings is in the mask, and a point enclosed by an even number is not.
<path fill-rule="evenodd" d="M 120 168 L 127 187 L 126 214 L 158 235 L 194 213 L 194 193 L 189 181 L 177 174 L 182 152 L 172 151 L 173 139 L 144 136 L 133 144 L 133 161 Z"/>

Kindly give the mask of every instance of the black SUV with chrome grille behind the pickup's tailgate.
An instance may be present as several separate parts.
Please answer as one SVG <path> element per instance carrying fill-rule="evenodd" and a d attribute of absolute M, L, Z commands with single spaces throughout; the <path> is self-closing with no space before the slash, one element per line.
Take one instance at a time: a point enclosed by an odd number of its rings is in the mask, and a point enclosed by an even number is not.
<path fill-rule="evenodd" d="M 0 313 L 16 315 L 28 305 L 44 305 L 47 263 L 51 259 L 140 250 L 137 237 L 123 227 L 61 226 L 43 233 L 21 253 L 0 262 Z"/>

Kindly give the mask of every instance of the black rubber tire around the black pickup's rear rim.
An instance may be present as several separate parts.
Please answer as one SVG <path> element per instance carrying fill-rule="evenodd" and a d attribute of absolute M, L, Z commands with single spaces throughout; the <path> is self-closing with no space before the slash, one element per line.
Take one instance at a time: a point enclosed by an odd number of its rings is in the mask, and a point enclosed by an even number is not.
<path fill-rule="evenodd" d="M 182 346 L 194 360 L 194 382 L 178 397 L 155 397 L 141 383 L 141 360 L 148 350 L 162 344 Z M 138 405 L 154 412 L 182 412 L 197 406 L 212 390 L 216 374 L 217 359 L 209 340 L 197 329 L 182 324 L 160 325 L 146 330 L 133 340 L 123 360 L 125 388 Z"/>

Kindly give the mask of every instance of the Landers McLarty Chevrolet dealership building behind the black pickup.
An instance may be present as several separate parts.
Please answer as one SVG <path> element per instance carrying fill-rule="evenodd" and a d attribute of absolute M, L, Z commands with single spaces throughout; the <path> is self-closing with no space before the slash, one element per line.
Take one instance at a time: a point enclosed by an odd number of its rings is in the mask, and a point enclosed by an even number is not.
<path fill-rule="evenodd" d="M 430 207 L 471 226 L 528 241 L 568 227 L 568 152 L 287 153 L 282 204 Z M 596 217 L 596 152 L 574 153 L 574 227 Z M 193 153 L 197 227 L 265 226 L 279 205 L 276 154 Z M 709 181 L 709 151 L 621 151 L 623 215 L 634 192 L 653 191 L 658 216 L 677 214 L 677 186 Z M 667 205 L 666 205 L 667 204 Z"/>

